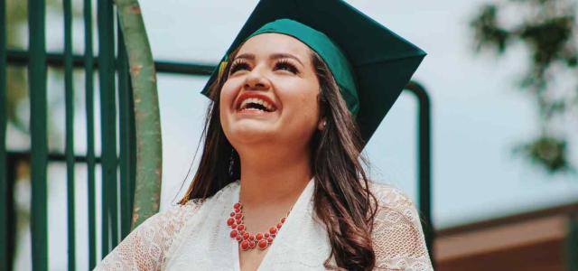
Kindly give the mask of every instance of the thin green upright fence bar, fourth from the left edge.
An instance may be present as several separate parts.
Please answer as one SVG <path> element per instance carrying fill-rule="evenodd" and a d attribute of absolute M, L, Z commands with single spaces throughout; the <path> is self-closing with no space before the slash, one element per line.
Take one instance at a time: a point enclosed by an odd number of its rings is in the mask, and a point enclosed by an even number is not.
<path fill-rule="evenodd" d="M 89 269 L 97 265 L 97 214 L 94 154 L 94 59 L 92 49 L 92 1 L 84 0 L 84 69 L 87 115 L 87 173 L 89 205 Z"/>

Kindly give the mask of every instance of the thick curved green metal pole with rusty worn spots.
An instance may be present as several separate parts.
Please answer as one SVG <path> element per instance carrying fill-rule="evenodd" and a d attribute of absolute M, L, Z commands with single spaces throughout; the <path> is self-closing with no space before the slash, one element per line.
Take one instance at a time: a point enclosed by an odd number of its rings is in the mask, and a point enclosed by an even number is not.
<path fill-rule="evenodd" d="M 133 228 L 158 212 L 163 149 L 156 71 L 136 0 L 116 0 L 135 98 L 136 183 Z"/>

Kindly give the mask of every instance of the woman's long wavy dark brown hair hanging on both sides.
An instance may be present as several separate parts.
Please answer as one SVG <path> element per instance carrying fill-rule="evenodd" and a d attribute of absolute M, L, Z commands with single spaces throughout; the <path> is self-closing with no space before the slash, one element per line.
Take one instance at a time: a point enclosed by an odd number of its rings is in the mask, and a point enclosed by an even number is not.
<path fill-rule="evenodd" d="M 239 46 L 240 48 L 240 46 Z M 229 55 L 234 59 L 237 51 Z M 359 128 L 340 96 L 340 89 L 324 61 L 312 51 L 312 64 L 320 83 L 319 107 L 325 117 L 324 129 L 312 136 L 311 156 L 314 176 L 313 206 L 323 222 L 331 242 L 328 268 L 371 270 L 376 257 L 371 230 L 377 211 L 375 196 L 369 191 L 368 178 L 360 156 L 362 140 Z M 230 64 L 210 86 L 212 102 L 202 133 L 204 148 L 200 164 L 189 189 L 180 201 L 204 200 L 228 183 L 240 178 L 239 157 L 228 142 L 219 119 L 220 89 L 228 78 Z M 337 266 L 331 266 L 331 257 Z"/>

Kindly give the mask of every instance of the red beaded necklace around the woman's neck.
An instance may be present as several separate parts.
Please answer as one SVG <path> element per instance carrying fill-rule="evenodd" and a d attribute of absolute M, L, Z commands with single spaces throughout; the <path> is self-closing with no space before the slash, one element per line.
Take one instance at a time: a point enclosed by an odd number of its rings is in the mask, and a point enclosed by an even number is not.
<path fill-rule="evenodd" d="M 256 234 L 251 234 L 246 230 L 245 223 L 243 223 L 243 217 L 243 205 L 240 202 L 237 202 L 233 205 L 233 211 L 230 213 L 227 225 L 232 229 L 229 236 L 239 242 L 239 248 L 243 251 L 255 247 L 263 250 L 271 246 L 271 244 L 273 244 L 273 239 L 275 239 L 275 236 L 279 232 L 279 229 L 281 229 L 283 223 L 287 220 L 287 217 L 282 218 L 275 227 L 269 229 L 269 232 L 257 232 Z"/>

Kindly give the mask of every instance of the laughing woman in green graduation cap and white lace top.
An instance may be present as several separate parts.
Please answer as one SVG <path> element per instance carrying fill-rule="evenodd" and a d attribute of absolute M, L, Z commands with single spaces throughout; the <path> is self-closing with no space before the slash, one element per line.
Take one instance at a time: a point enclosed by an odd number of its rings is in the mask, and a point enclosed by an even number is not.
<path fill-rule="evenodd" d="M 279 5 L 291 1 L 274 2 L 257 5 L 204 91 L 214 102 L 181 204 L 146 220 L 97 269 L 432 269 L 411 201 L 368 182 L 359 163 L 423 53 L 411 67 L 399 61 L 413 56 L 387 59 L 396 72 L 381 67 L 387 78 L 368 86 L 376 73 L 367 67 L 378 64 L 359 65 L 347 35 L 331 35 L 339 25 L 315 29 L 286 19 L 297 16 Z M 357 30 L 376 24 L 349 5 L 327 4 L 334 14 L 322 11 L 332 18 L 354 11 L 351 20 L 366 19 Z M 319 20 L 320 12 L 312 14 Z M 385 34 L 371 38 L 393 36 L 379 30 Z"/>

